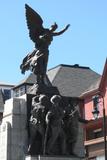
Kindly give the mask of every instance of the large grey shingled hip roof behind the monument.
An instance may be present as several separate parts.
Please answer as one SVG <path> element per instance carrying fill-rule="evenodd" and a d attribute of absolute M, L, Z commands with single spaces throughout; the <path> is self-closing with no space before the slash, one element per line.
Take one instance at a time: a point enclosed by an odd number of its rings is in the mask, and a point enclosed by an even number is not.
<path fill-rule="evenodd" d="M 101 75 L 89 67 L 79 65 L 59 65 L 47 72 L 53 86 L 57 86 L 62 96 L 80 97 L 87 90 L 99 86 Z M 96 85 L 97 84 L 97 85 Z"/>

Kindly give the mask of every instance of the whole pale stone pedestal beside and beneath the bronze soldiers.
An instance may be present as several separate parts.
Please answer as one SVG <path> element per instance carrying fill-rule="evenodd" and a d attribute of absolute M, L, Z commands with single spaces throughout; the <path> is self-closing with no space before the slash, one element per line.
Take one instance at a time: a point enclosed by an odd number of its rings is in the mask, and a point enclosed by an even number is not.
<path fill-rule="evenodd" d="M 50 94 L 51 95 L 51 94 Z M 0 125 L 0 160 L 80 160 L 76 157 L 27 156 L 28 120 L 32 95 L 24 95 L 6 101 L 3 121 Z M 38 146 L 37 146 L 38 147 Z M 79 125 L 76 155 L 84 156 L 83 129 Z"/>

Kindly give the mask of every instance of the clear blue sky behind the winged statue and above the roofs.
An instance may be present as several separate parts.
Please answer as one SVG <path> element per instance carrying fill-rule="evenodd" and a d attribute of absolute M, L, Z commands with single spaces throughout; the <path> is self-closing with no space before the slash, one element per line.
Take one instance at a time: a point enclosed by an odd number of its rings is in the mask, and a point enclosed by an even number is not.
<path fill-rule="evenodd" d="M 17 84 L 23 58 L 34 49 L 26 24 L 25 3 L 40 14 L 44 28 L 54 22 L 57 31 L 49 47 L 48 69 L 59 64 L 90 67 L 102 74 L 107 57 L 106 0 L 1 0 L 0 2 L 0 82 Z"/>

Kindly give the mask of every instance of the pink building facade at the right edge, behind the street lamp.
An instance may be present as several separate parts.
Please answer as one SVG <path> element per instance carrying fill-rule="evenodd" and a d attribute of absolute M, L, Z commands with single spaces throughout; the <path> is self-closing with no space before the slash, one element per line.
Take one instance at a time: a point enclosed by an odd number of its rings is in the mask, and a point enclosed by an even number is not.
<path fill-rule="evenodd" d="M 89 121 L 84 127 L 87 158 L 103 160 L 107 158 L 107 60 L 101 78 L 81 98 L 85 119 Z"/>

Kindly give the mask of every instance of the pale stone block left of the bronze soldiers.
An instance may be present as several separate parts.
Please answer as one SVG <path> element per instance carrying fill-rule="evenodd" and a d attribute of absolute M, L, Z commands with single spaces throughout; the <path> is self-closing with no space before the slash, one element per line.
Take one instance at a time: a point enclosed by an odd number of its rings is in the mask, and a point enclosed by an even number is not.
<path fill-rule="evenodd" d="M 27 149 L 26 96 L 6 101 L 0 126 L 0 160 L 23 160 Z"/>

